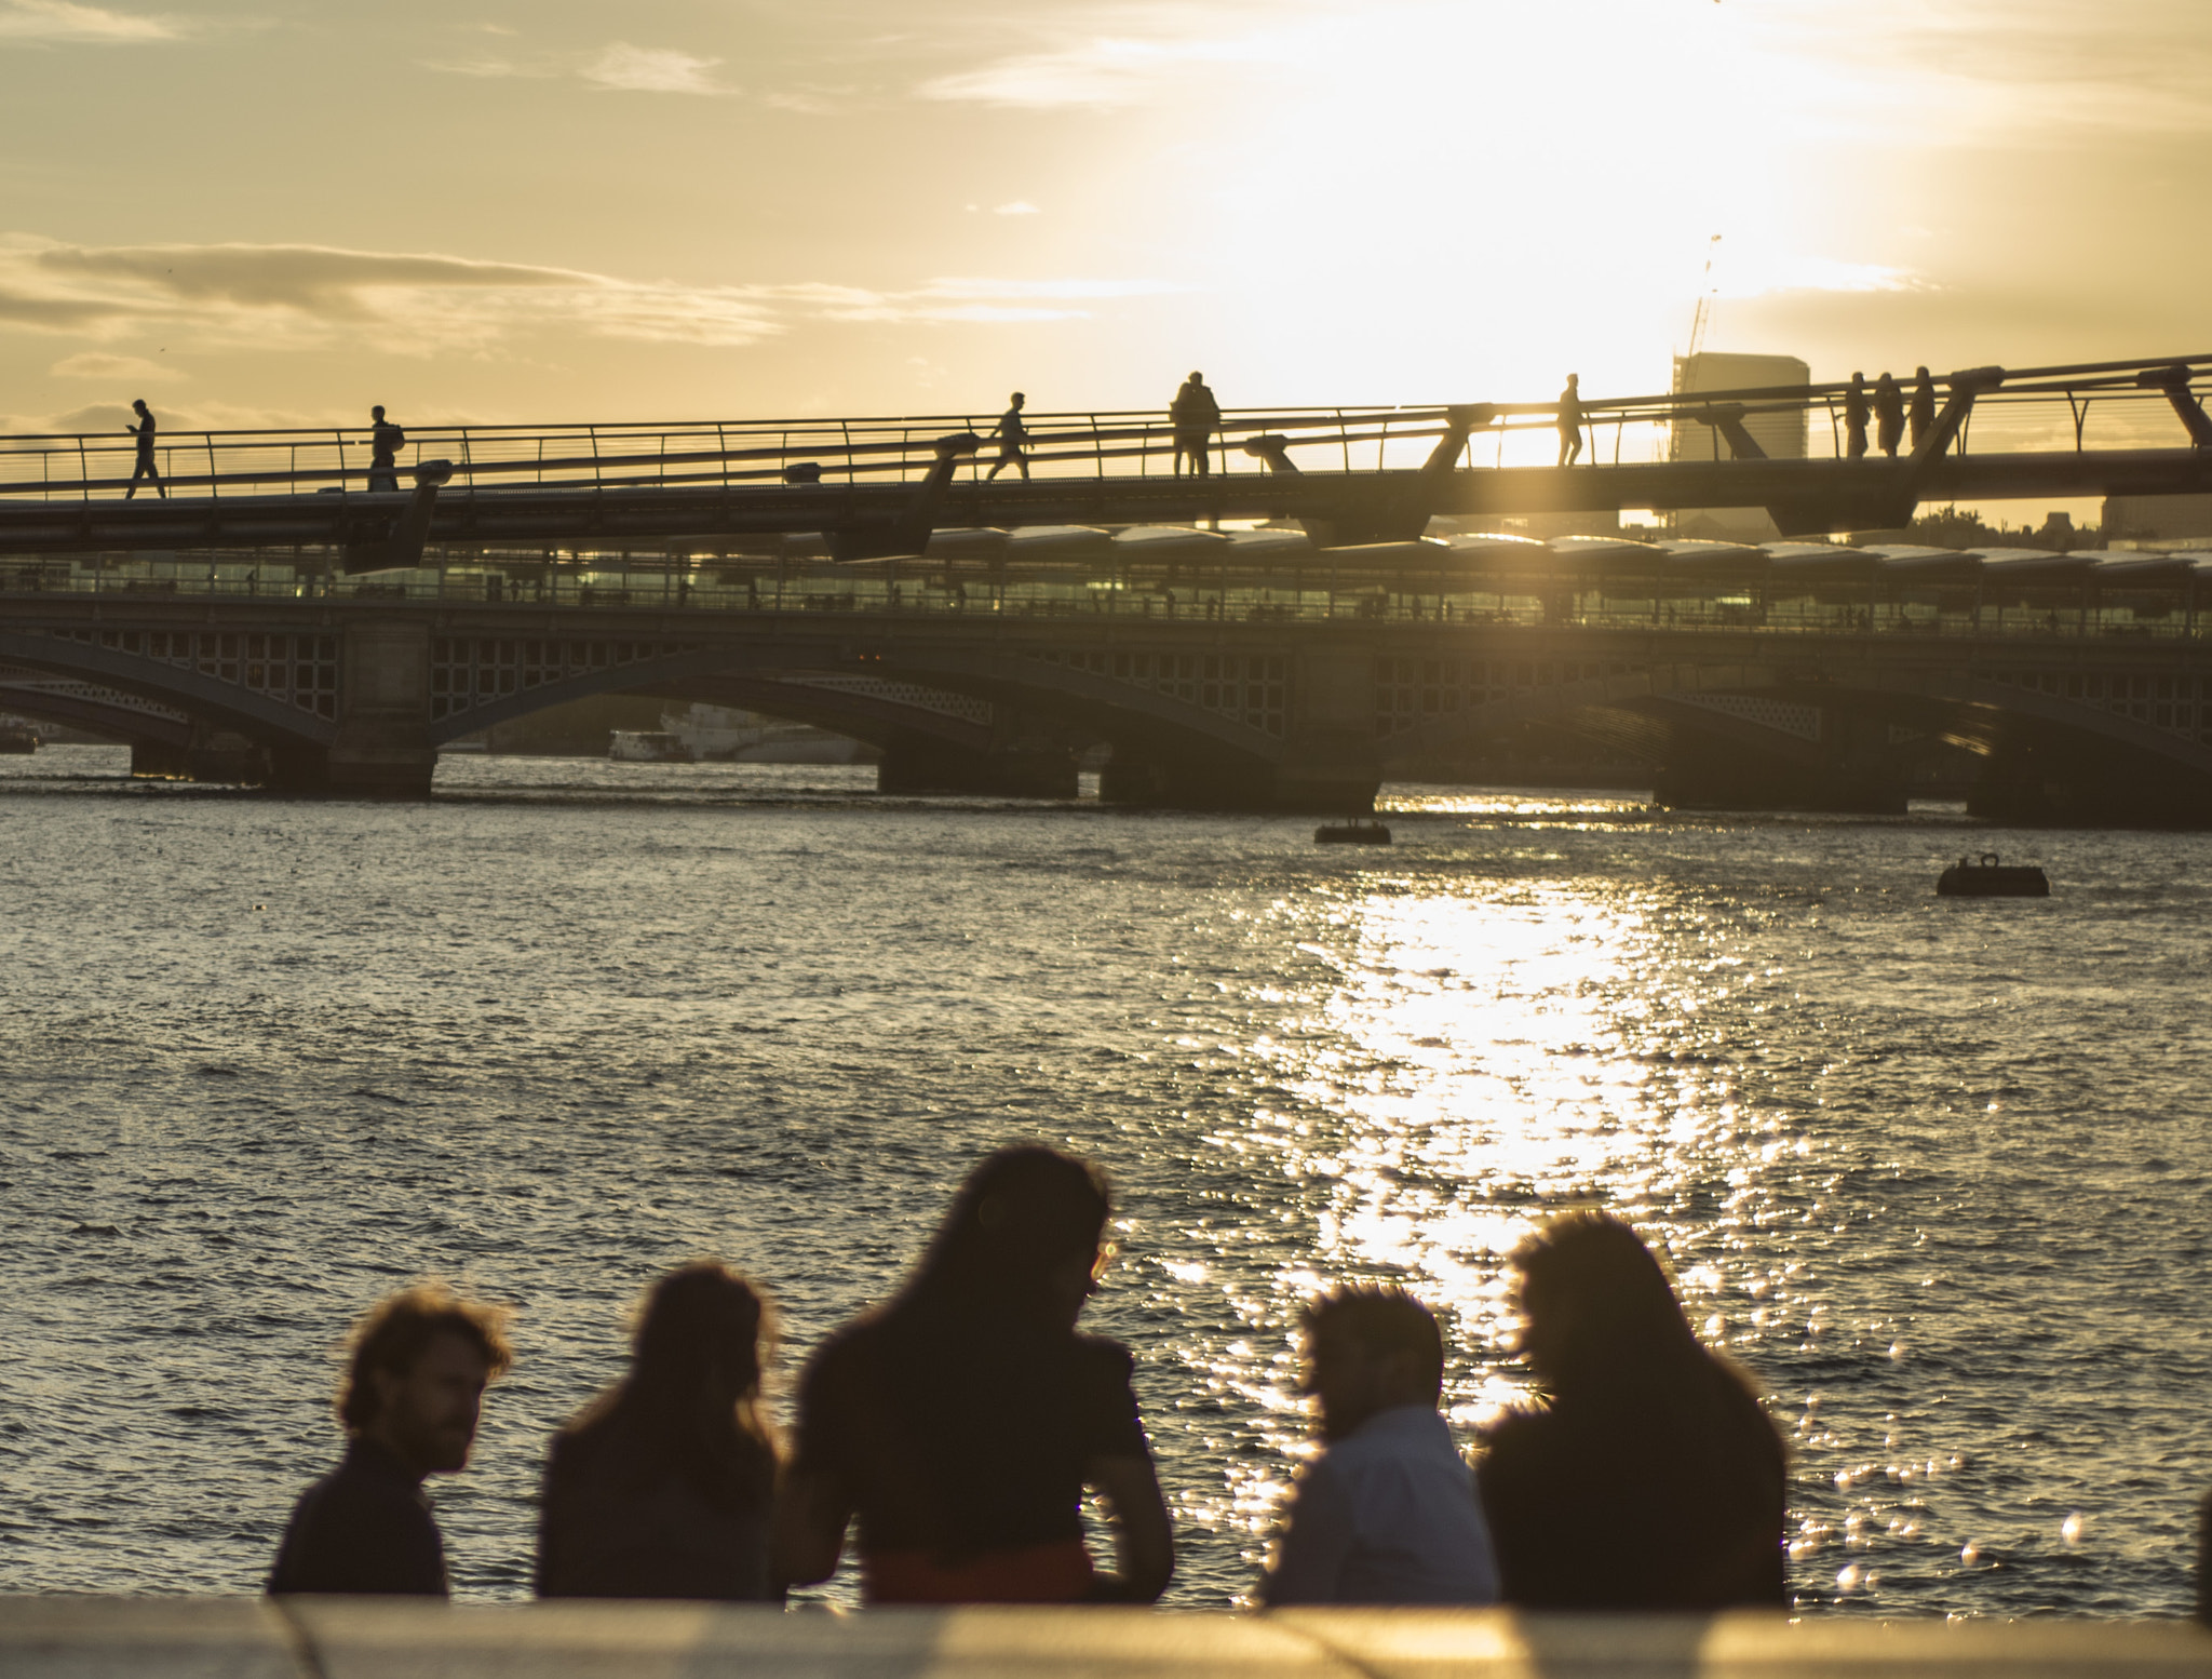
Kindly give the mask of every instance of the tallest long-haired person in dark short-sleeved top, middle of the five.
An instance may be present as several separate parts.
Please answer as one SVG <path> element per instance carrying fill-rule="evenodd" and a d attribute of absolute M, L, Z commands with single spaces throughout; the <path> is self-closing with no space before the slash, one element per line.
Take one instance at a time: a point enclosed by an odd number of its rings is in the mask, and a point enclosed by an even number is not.
<path fill-rule="evenodd" d="M 1002 1148 L 953 1197 L 898 1296 L 838 1329 L 799 1391 L 776 1540 L 827 1579 L 860 1522 L 876 1604 L 1139 1602 L 1175 1573 L 1126 1347 L 1075 1332 L 1104 1261 L 1106 1186 L 1051 1148 Z M 1082 1495 L 1113 1511 L 1093 1568 Z"/>

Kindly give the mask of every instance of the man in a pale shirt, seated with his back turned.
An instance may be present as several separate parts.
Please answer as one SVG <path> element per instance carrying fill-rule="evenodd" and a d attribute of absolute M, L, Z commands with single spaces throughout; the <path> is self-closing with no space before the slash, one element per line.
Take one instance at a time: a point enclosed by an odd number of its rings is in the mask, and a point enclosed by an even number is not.
<path fill-rule="evenodd" d="M 1493 1604 L 1498 1562 L 1475 1480 L 1436 1411 L 1444 1338 L 1398 1290 L 1343 1290 L 1305 1310 L 1305 1391 L 1327 1445 L 1298 1475 L 1259 1599 Z"/>

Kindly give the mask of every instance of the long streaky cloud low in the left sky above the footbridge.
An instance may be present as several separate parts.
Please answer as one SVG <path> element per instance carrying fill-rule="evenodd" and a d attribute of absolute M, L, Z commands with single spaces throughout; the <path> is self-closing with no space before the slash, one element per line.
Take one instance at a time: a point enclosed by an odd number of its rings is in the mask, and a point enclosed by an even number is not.
<path fill-rule="evenodd" d="M 686 285 L 436 252 L 330 246 L 64 246 L 0 239 L 0 325 L 95 343 L 161 330 L 195 350 L 491 354 L 531 332 L 741 347 L 803 321 L 1066 321 L 1088 305 L 1179 290 L 1152 279 L 931 279 L 909 290 L 830 281 Z M 122 376 L 86 352 L 60 376 Z"/>

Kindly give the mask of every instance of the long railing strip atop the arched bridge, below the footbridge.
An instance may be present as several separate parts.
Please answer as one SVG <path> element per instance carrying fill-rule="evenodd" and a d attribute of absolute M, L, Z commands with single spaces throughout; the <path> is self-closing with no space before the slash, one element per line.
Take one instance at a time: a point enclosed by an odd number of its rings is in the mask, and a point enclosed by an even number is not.
<path fill-rule="evenodd" d="M 1199 533 L 1192 533 L 1199 535 Z M 1790 566 L 1756 549 L 1699 555 L 1606 544 L 1478 551 L 1389 544 L 1298 564 L 1234 557 L 1064 564 L 905 560 L 836 564 L 734 555 L 641 566 L 617 557 L 451 564 L 334 575 L 270 557 L 0 562 L 0 593 L 95 595 L 159 608 L 175 597 L 234 602 L 471 604 L 626 613 L 909 615 L 940 619 L 1137 619 L 1179 624 L 1391 624 L 1772 635 L 2132 637 L 2205 633 L 2212 573 L 2188 555 L 1927 555 L 1834 549 Z M 1504 557 L 1500 557 L 1500 553 Z M 1524 555 L 1524 557 L 1517 557 Z M 1796 557 L 1807 557 L 1798 553 Z M 1719 566 L 1719 571 L 1714 571 Z"/>

